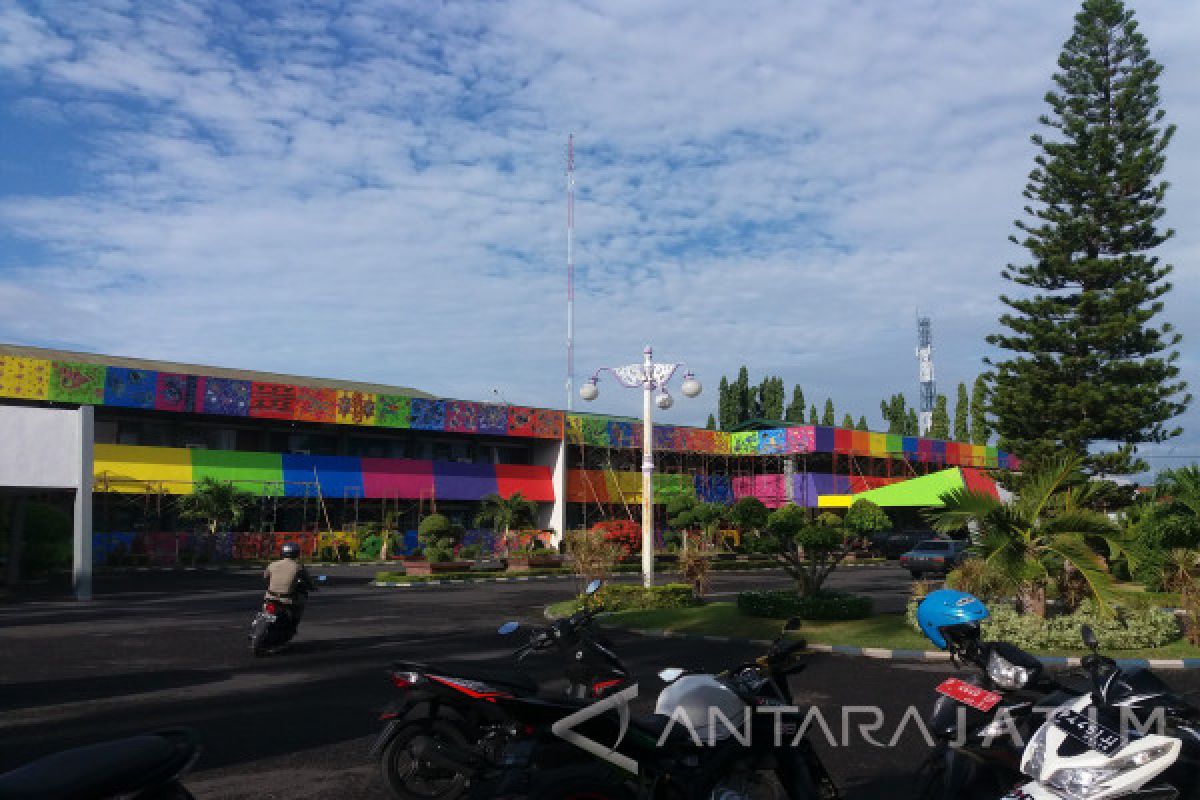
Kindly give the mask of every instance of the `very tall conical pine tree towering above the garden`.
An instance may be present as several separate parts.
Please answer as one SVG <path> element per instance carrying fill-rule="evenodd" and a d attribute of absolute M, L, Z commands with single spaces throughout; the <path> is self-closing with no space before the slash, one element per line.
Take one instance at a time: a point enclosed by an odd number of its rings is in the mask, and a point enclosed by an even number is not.
<path fill-rule="evenodd" d="M 1008 351 L 991 363 L 1001 445 L 1031 463 L 1099 444 L 1109 452 L 1088 457 L 1093 471 L 1139 471 L 1139 444 L 1181 432 L 1171 420 L 1192 398 L 1180 336 L 1152 323 L 1171 288 L 1152 251 L 1174 234 L 1158 224 L 1175 133 L 1162 71 L 1121 0 L 1084 0 L 1045 96 L 1046 136 L 1032 137 L 1021 239 L 1010 237 L 1030 260 L 1002 272 L 1022 290 L 1001 296 L 1007 330 L 988 337 Z"/>

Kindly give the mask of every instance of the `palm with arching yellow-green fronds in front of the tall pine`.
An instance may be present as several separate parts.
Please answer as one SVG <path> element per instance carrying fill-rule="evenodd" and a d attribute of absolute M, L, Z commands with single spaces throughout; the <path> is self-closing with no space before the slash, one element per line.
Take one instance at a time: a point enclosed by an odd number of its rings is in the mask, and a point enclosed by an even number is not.
<path fill-rule="evenodd" d="M 998 579 L 1015 587 L 1022 613 L 1045 616 L 1046 585 L 1063 570 L 1076 571 L 1099 610 L 1110 610 L 1112 579 L 1092 542 L 1103 541 L 1109 558 L 1128 553 L 1117 525 L 1082 507 L 1088 492 L 1080 463 L 1066 456 L 1026 474 L 1016 498 L 1007 503 L 955 489 L 942 495 L 943 507 L 929 511 L 940 531 L 972 531 L 977 554 Z"/>

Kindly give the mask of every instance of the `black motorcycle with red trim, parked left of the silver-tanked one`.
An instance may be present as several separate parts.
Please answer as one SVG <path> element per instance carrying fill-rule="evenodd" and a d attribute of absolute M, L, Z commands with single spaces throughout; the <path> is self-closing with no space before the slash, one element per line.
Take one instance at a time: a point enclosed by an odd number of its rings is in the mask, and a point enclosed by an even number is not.
<path fill-rule="evenodd" d="M 601 587 L 593 581 L 584 596 Z M 534 652 L 557 650 L 569 681 L 565 698 L 542 700 L 576 710 L 624 686 L 629 670 L 593 628 L 599 609 L 581 609 L 544 628 L 514 655 L 520 664 Z M 506 622 L 498 633 L 520 626 Z M 518 726 L 500 697 L 535 698 L 538 685 L 517 672 L 469 670 L 401 661 L 389 670 L 400 697 L 380 715 L 383 730 L 371 746 L 384 783 L 397 800 L 454 800 L 476 777 L 500 764 L 500 754 Z M 485 795 L 486 796 L 486 795 Z"/>

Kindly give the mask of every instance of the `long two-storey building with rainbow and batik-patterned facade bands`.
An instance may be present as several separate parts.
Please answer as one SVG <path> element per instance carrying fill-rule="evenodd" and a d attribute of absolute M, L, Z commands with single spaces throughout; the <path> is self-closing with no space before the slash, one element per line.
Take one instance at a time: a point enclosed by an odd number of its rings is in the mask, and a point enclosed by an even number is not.
<path fill-rule="evenodd" d="M 178 528 L 162 500 L 206 477 L 259 497 L 259 524 L 286 531 L 385 518 L 415 528 L 434 507 L 470 528 L 482 497 L 515 492 L 535 500 L 540 525 L 556 533 L 641 513 L 642 426 L 631 419 L 0 345 L 0 419 L 10 420 L 0 431 L 24 429 L 19 409 L 90 415 L 84 470 L 100 533 Z M 0 441 L 10 471 L 76 457 L 18 438 Z M 730 433 L 660 425 L 654 449 L 659 515 L 680 493 L 844 506 L 884 487 L 917 487 L 914 479 L 931 474 L 944 473 L 934 482 L 944 491 L 985 481 L 982 470 L 1015 467 L 995 447 L 826 426 Z M 877 497 L 936 501 L 919 488 Z"/>

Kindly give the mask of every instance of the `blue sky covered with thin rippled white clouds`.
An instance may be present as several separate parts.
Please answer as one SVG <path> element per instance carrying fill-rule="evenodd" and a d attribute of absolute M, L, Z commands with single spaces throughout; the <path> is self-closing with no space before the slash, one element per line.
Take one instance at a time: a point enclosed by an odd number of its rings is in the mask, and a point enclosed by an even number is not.
<path fill-rule="evenodd" d="M 649 342 L 877 425 L 918 307 L 943 391 L 979 369 L 1076 7 L 5 4 L 0 341 L 562 405 L 574 131 L 580 373 Z M 1200 6 L 1135 7 L 1196 384 Z"/>

